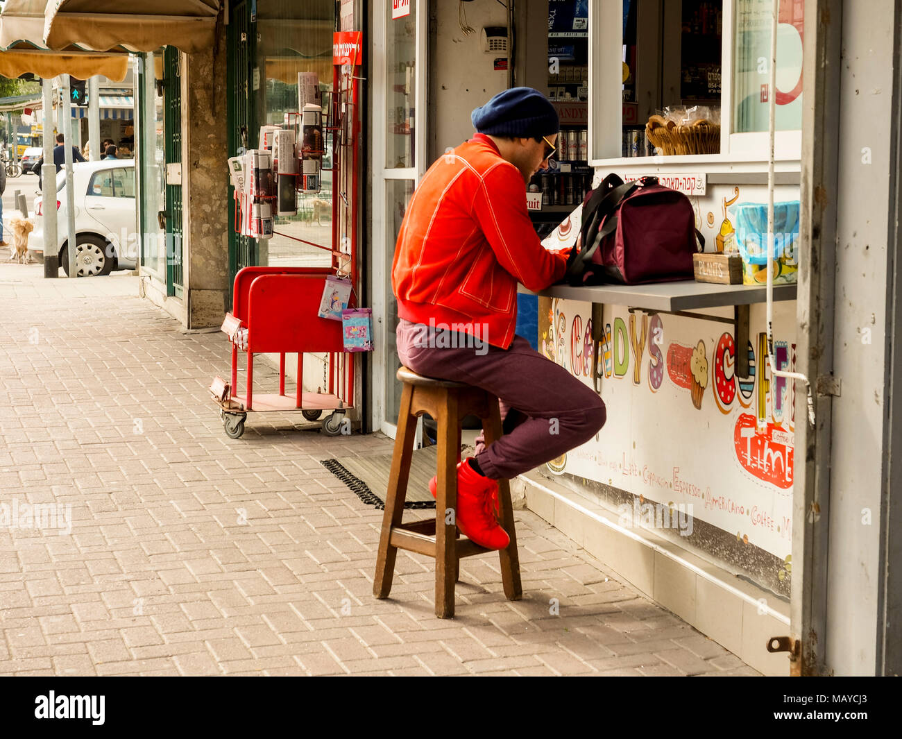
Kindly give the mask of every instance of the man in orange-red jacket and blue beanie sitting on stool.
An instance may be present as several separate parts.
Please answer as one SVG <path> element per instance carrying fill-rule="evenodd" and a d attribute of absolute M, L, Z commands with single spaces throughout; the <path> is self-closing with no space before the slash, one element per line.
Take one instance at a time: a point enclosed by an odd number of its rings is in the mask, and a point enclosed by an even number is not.
<path fill-rule="evenodd" d="M 555 152 L 557 112 L 538 90 L 512 88 L 471 120 L 478 133 L 433 163 L 410 199 L 391 285 L 400 361 L 502 402 L 504 436 L 457 466 L 456 511 L 467 537 L 501 550 L 510 538 L 493 513 L 497 480 L 583 444 L 606 415 L 591 387 L 514 334 L 517 283 L 542 290 L 566 269 L 526 208 L 526 185 Z M 436 494 L 435 477 L 429 489 Z"/>

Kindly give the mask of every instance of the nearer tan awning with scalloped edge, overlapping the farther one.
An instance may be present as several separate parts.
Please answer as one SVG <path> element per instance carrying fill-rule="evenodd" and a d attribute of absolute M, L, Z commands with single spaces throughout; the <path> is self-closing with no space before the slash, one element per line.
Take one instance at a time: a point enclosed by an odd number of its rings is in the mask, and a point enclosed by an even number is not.
<path fill-rule="evenodd" d="M 49 0 L 42 41 L 94 51 L 175 46 L 193 53 L 213 47 L 220 0 Z"/>

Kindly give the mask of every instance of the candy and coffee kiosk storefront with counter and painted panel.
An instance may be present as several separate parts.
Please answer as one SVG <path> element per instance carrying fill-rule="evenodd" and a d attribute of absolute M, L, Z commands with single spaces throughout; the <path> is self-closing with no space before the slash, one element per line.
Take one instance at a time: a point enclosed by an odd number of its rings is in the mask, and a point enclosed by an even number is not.
<path fill-rule="evenodd" d="M 400 218 L 428 164 L 472 134 L 470 111 L 501 89 L 548 94 L 566 134 L 566 155 L 532 183 L 542 236 L 572 244 L 582 193 L 615 172 L 684 192 L 705 250 L 729 251 L 736 207 L 767 202 L 770 95 L 775 199 L 799 200 L 802 2 L 780 4 L 775 90 L 769 0 L 396 5 L 373 8 L 373 141 L 386 142 L 373 152 L 374 428 L 391 433 L 398 405 L 388 271 Z M 646 123 L 666 108 L 719 126 L 713 149 L 655 153 Z M 786 369 L 797 362 L 797 267 L 778 264 L 774 291 Z M 595 383 L 608 422 L 520 482 L 531 510 L 633 586 L 750 665 L 786 674 L 786 656 L 765 644 L 789 625 L 795 389 L 770 376 L 764 302 L 760 286 L 699 282 L 552 288 L 531 308 L 523 296 L 537 350 Z"/>

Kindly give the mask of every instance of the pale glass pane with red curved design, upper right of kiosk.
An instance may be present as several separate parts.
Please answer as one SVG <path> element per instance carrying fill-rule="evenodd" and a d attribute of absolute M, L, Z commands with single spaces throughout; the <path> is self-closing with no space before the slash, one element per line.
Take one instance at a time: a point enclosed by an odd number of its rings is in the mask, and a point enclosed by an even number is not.
<path fill-rule="evenodd" d="M 777 29 L 776 127 L 802 128 L 804 0 L 781 0 Z M 732 133 L 768 130 L 771 0 L 737 0 L 733 54 Z"/>

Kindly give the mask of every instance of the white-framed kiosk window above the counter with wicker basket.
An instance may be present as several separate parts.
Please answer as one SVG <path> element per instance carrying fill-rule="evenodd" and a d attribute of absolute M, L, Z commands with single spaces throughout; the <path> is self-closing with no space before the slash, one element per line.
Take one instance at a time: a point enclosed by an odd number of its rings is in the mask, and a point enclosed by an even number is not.
<path fill-rule="evenodd" d="M 801 152 L 803 0 L 778 12 L 776 152 Z M 589 3 L 589 161 L 767 159 L 770 0 Z"/>

